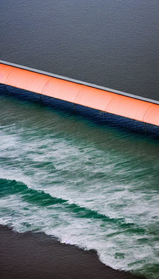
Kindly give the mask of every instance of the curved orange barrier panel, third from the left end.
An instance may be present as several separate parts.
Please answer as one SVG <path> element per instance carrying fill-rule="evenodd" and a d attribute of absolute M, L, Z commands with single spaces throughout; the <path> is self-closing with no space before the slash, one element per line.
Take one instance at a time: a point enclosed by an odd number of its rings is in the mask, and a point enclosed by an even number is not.
<path fill-rule="evenodd" d="M 42 94 L 68 102 L 75 102 L 78 92 L 84 85 L 59 78 L 52 78 L 43 88 Z"/>

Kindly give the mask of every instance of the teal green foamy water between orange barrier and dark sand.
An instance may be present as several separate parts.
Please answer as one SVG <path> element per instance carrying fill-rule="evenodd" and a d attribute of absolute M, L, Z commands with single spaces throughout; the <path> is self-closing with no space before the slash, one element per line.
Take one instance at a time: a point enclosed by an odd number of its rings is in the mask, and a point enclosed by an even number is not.
<path fill-rule="evenodd" d="M 113 268 L 159 278 L 157 128 L 145 135 L 137 122 L 109 125 L 110 116 L 0 90 L 0 224 L 44 231 L 96 249 Z"/>

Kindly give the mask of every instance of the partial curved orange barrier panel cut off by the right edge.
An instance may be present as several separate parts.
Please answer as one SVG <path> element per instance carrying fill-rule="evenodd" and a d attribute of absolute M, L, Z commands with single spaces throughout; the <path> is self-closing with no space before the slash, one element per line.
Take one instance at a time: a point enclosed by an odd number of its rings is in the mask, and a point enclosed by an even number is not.
<path fill-rule="evenodd" d="M 143 117 L 143 122 L 159 126 L 159 105 L 151 104 Z"/>

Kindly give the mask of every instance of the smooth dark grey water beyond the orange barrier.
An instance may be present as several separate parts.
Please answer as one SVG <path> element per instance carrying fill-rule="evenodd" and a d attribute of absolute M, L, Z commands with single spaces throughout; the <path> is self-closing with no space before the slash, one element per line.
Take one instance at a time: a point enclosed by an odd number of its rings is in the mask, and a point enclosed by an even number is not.
<path fill-rule="evenodd" d="M 0 59 L 159 100 L 156 0 L 1 0 Z"/>

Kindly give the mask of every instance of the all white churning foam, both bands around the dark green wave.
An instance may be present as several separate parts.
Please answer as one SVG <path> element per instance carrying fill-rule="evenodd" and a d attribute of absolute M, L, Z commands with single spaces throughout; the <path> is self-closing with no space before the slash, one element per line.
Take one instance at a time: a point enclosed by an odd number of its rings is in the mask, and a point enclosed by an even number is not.
<path fill-rule="evenodd" d="M 39 229 L 63 243 L 96 249 L 101 261 L 116 269 L 139 270 L 144 264 L 157 263 L 158 245 L 149 231 L 159 219 L 159 195 L 149 187 L 153 173 L 141 176 L 148 168 L 142 159 L 111 145 L 100 149 L 58 131 L 39 136 L 38 129 L 20 124 L 3 128 L 0 155 L 7 160 L 1 163 L 0 178 L 23 182 L 116 222 L 79 218 L 64 204 L 35 206 L 17 194 L 0 199 L 0 224 L 13 225 L 20 232 Z M 134 224 L 143 234 L 121 228 L 122 218 L 123 224 Z M 142 239 L 148 241 L 142 243 Z"/>

